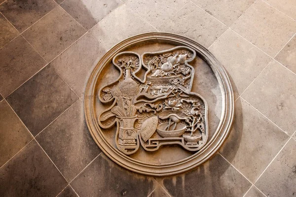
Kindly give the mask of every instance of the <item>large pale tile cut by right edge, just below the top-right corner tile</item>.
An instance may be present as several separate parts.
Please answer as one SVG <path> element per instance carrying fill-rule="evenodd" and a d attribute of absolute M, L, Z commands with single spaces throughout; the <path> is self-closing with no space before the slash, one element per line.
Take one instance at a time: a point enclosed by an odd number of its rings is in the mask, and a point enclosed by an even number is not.
<path fill-rule="evenodd" d="M 296 21 L 258 0 L 231 29 L 274 57 L 296 33 Z"/>

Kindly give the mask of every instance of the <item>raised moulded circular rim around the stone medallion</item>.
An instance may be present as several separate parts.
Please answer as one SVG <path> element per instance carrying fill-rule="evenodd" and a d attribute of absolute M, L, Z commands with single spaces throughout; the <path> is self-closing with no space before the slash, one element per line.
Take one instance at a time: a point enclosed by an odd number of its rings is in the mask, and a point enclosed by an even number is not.
<path fill-rule="evenodd" d="M 138 160 L 134 160 L 129 156 L 121 153 L 115 147 L 108 143 L 102 134 L 97 121 L 97 115 L 94 110 L 97 95 L 95 94 L 98 77 L 103 67 L 109 63 L 112 58 L 125 48 L 140 44 L 149 40 L 157 40 L 162 42 L 173 42 L 182 46 L 191 47 L 196 51 L 196 55 L 202 58 L 213 70 L 222 92 L 222 114 L 221 121 L 215 131 L 213 137 L 198 152 L 183 160 L 167 163 L 167 164 L 148 164 Z M 224 67 L 216 60 L 216 58 L 202 45 L 194 40 L 173 33 L 143 33 L 129 37 L 116 45 L 114 45 L 99 61 L 93 69 L 84 95 L 84 112 L 87 127 L 101 150 L 116 164 L 141 174 L 152 176 L 167 176 L 185 172 L 190 170 L 208 159 L 210 159 L 222 146 L 222 143 L 228 136 L 231 128 L 234 114 L 234 98 L 232 86 Z"/>

